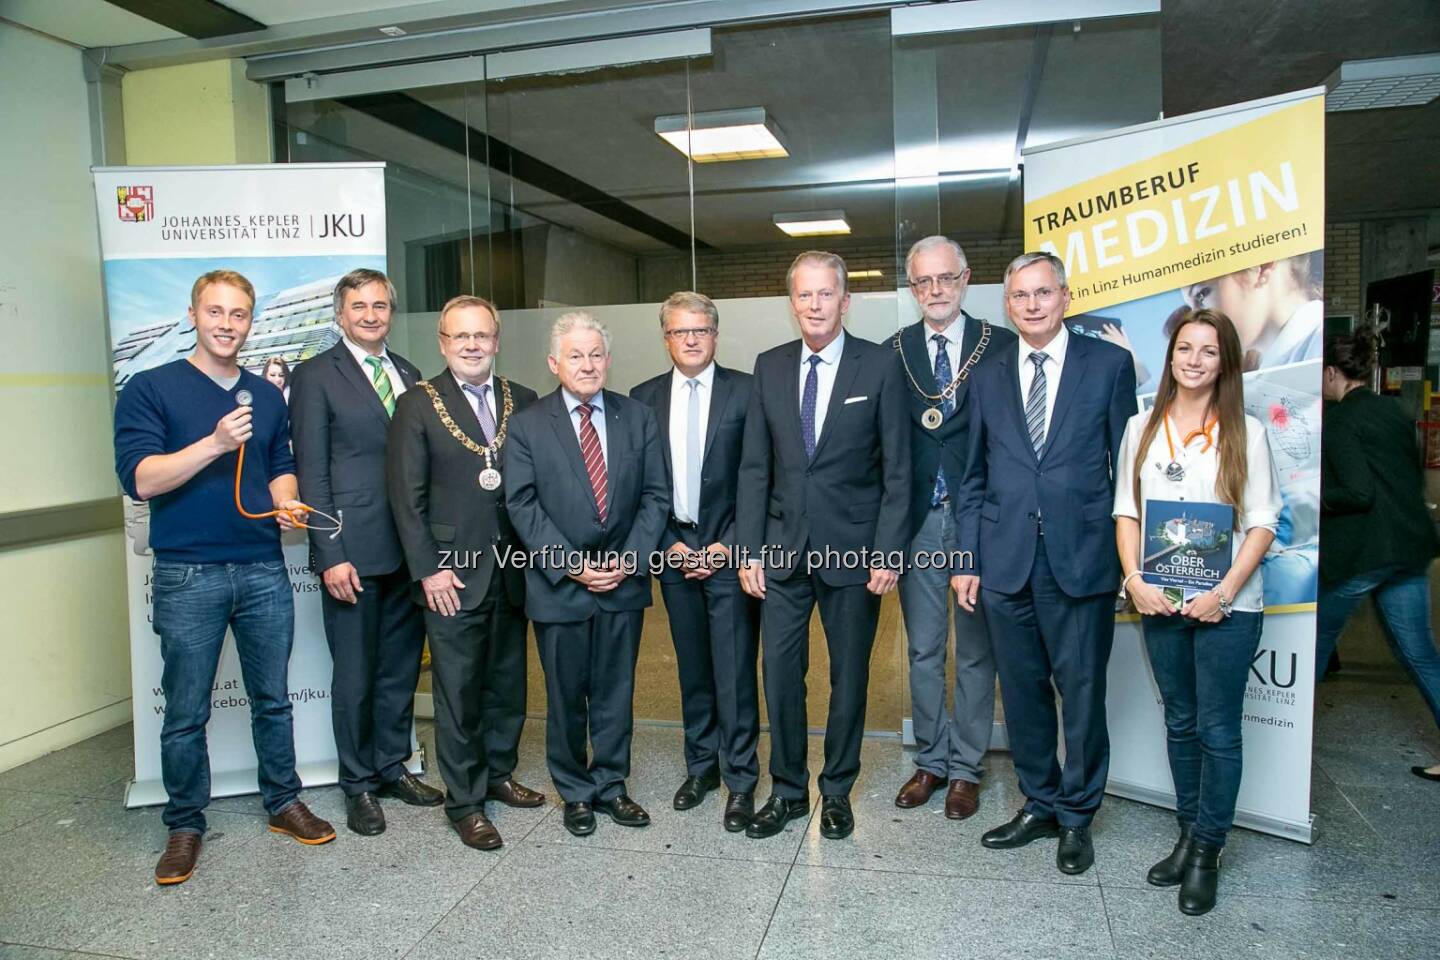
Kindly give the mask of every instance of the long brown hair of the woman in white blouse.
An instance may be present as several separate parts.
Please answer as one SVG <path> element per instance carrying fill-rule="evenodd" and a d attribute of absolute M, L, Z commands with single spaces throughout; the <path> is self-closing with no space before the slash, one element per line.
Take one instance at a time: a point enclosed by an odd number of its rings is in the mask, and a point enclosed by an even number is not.
<path fill-rule="evenodd" d="M 1220 376 L 1215 377 L 1215 383 L 1211 387 L 1205 419 L 1208 420 L 1211 412 L 1214 412 L 1215 419 L 1220 422 L 1220 476 L 1215 479 L 1215 495 L 1220 498 L 1220 502 L 1236 508 L 1236 530 L 1238 530 L 1240 514 L 1246 508 L 1246 445 L 1248 443 L 1243 357 L 1240 353 L 1240 335 L 1236 334 L 1234 324 L 1218 309 L 1187 309 L 1178 318 L 1171 332 L 1169 345 L 1165 348 L 1165 367 L 1161 371 L 1161 386 L 1155 391 L 1155 406 L 1151 407 L 1151 419 L 1145 422 L 1145 429 L 1140 430 L 1140 443 L 1136 448 L 1135 502 L 1142 502 L 1140 468 L 1143 466 L 1145 455 L 1149 452 L 1155 435 L 1165 423 L 1165 417 L 1169 416 L 1171 403 L 1175 402 L 1175 394 L 1178 393 L 1175 374 L 1171 373 L 1171 361 L 1175 357 L 1175 341 L 1179 340 L 1181 331 L 1189 324 L 1204 324 L 1212 328 L 1215 340 L 1220 341 Z"/>

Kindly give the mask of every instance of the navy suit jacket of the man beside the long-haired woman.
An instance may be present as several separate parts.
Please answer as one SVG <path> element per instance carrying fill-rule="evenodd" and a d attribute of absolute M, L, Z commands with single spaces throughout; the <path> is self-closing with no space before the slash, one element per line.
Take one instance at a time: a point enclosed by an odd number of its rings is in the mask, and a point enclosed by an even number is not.
<path fill-rule="evenodd" d="M 982 364 L 971 381 L 971 445 L 956 511 L 959 548 L 973 551 L 981 586 L 1017 593 L 1035 561 L 1035 514 L 1060 589 L 1073 597 L 1115 592 L 1115 463 L 1136 412 L 1128 350 L 1070 335 L 1045 445 L 1035 456 L 1020 396 L 1020 348 Z"/>

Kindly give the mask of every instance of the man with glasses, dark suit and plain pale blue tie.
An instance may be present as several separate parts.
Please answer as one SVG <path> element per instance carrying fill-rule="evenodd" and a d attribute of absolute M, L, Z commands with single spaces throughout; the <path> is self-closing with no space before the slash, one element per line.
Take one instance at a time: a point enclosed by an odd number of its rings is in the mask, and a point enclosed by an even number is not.
<path fill-rule="evenodd" d="M 740 590 L 732 563 L 734 494 L 740 469 L 747 373 L 714 361 L 720 312 L 703 294 L 671 294 L 660 328 L 675 366 L 631 396 L 655 410 L 671 491 L 661 545 L 660 592 L 670 616 L 685 721 L 685 780 L 674 807 L 688 810 L 724 774 L 724 829 L 737 833 L 755 813 L 760 776 L 756 743 L 760 691 L 755 659 L 760 609 Z"/>

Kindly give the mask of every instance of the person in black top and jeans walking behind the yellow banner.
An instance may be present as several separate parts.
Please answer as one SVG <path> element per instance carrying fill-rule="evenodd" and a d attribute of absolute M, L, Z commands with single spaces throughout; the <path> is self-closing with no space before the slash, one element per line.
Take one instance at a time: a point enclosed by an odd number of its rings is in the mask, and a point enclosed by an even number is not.
<path fill-rule="evenodd" d="M 1320 603 L 1315 682 L 1325 675 L 1345 622 L 1365 596 L 1394 651 L 1440 725 L 1440 652 L 1430 628 L 1430 561 L 1440 538 L 1426 510 L 1416 425 L 1398 403 L 1375 396 L 1375 337 L 1325 340 L 1320 427 Z M 1440 782 L 1440 764 L 1411 767 Z"/>

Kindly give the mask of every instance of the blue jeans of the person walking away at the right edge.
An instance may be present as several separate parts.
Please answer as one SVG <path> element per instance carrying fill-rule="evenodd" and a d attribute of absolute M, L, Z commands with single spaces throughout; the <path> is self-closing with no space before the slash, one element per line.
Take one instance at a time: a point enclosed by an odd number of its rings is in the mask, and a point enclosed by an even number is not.
<path fill-rule="evenodd" d="M 1380 610 L 1391 652 L 1420 688 L 1436 725 L 1440 725 L 1440 651 L 1436 651 L 1436 638 L 1430 630 L 1427 567 L 1382 567 L 1320 593 L 1315 625 L 1315 682 L 1325 676 L 1325 665 L 1331 662 L 1345 622 L 1368 593 L 1375 594 L 1375 609 Z"/>

